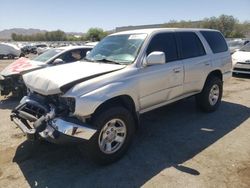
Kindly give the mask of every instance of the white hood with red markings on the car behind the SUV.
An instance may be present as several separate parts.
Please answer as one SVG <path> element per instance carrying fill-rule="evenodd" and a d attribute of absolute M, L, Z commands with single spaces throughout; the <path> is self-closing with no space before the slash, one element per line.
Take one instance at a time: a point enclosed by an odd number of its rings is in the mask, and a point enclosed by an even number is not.
<path fill-rule="evenodd" d="M 40 68 L 46 64 L 38 61 L 32 61 L 27 58 L 21 57 L 7 66 L 1 71 L 1 75 L 10 76 L 14 74 L 20 74 L 22 72 L 31 71 Z"/>

